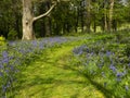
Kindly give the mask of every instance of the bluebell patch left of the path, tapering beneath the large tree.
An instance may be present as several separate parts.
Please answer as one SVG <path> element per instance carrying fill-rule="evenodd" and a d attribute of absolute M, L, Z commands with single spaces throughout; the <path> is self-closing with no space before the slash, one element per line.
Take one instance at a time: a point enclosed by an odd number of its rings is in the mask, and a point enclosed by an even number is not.
<path fill-rule="evenodd" d="M 74 40 L 77 38 L 51 37 L 31 41 L 9 41 L 5 47 L 0 48 L 0 98 L 6 98 L 6 93 L 12 91 L 16 76 L 27 59 L 41 53 L 43 49 Z"/>

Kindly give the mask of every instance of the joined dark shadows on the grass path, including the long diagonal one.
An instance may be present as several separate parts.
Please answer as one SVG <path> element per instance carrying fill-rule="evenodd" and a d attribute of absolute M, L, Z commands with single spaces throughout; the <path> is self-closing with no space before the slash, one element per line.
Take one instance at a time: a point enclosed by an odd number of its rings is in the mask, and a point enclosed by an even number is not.
<path fill-rule="evenodd" d="M 75 66 L 66 65 L 66 63 L 65 64 L 58 63 L 58 62 L 55 63 L 55 61 L 50 60 L 50 58 L 46 58 L 42 61 L 44 63 L 54 65 L 54 66 L 60 68 L 60 69 L 70 70 L 73 72 L 76 72 L 77 74 L 80 74 L 80 76 L 83 76 L 84 78 L 87 78 L 87 81 L 83 81 L 83 82 L 69 81 L 69 79 L 66 81 L 64 78 L 63 79 L 55 79 L 55 77 L 51 77 L 51 76 L 43 77 L 43 76 L 36 75 L 31 79 L 27 79 L 29 83 L 26 83 L 26 79 L 21 79 L 17 87 L 14 88 L 14 91 L 15 91 L 14 95 L 12 95 L 12 97 L 10 97 L 10 98 L 15 98 L 15 95 L 18 95 L 16 90 L 23 90 L 25 88 L 27 89 L 29 87 L 35 87 L 37 85 L 39 85 L 40 88 L 30 93 L 29 97 L 32 97 L 32 96 L 41 93 L 43 98 L 50 98 L 50 97 L 52 97 L 51 93 L 53 90 L 55 90 L 56 87 L 58 87 L 63 84 L 67 84 L 67 85 L 69 85 L 69 84 L 77 84 L 77 85 L 82 84 L 82 85 L 87 86 L 88 81 L 98 90 L 100 90 L 104 95 L 105 98 L 120 98 L 118 96 L 115 96 L 112 90 L 106 89 L 104 86 L 102 86 L 98 82 L 93 81 L 90 75 L 81 73 L 79 70 L 75 69 Z M 64 72 L 63 72 L 63 74 L 64 74 Z M 25 76 L 22 75 L 22 77 L 25 77 Z M 21 85 L 21 84 L 25 84 L 25 85 Z M 50 93 L 50 94 L 48 94 L 48 93 Z M 79 94 L 75 93 L 74 95 L 70 96 L 70 98 L 79 98 L 78 96 L 79 96 Z M 130 98 L 130 97 L 127 96 L 125 98 Z"/>

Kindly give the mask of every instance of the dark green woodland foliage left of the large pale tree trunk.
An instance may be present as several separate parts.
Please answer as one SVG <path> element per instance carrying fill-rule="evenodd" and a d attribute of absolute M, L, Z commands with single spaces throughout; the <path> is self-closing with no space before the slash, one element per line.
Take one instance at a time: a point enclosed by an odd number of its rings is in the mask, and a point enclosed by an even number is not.
<path fill-rule="evenodd" d="M 0 0 L 0 35 L 6 39 L 12 30 L 16 33 L 15 38 L 21 37 L 21 0 Z"/>

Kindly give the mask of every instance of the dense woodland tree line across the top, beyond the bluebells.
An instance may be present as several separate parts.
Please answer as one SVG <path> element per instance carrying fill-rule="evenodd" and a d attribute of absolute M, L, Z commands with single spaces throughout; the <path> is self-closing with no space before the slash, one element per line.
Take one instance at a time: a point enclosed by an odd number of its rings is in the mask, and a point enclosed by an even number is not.
<path fill-rule="evenodd" d="M 130 22 L 130 0 L 0 0 L 0 35 L 11 40 L 22 37 L 27 39 L 25 36 L 29 36 L 26 33 L 30 21 L 26 20 L 37 17 L 50 9 L 48 14 L 32 21 L 32 35 L 28 38 L 77 32 L 96 33 L 98 27 L 113 32 Z M 28 9 L 30 12 L 26 13 Z"/>

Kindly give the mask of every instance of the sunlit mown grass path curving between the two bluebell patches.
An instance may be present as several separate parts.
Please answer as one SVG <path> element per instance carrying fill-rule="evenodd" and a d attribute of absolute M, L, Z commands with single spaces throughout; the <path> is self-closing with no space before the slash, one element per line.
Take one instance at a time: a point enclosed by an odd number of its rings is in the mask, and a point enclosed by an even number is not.
<path fill-rule="evenodd" d="M 104 98 L 84 76 L 69 69 L 70 53 L 76 44 L 44 51 L 20 77 L 14 98 Z"/>

